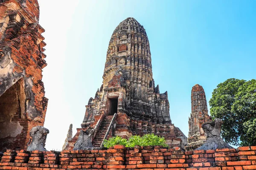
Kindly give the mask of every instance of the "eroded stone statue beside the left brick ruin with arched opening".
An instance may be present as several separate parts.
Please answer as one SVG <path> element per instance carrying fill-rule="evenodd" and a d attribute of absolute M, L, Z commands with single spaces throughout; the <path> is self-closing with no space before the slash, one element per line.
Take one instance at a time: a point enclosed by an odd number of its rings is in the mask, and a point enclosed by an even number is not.
<path fill-rule="evenodd" d="M 45 144 L 48 133 L 49 133 L 49 130 L 43 126 L 33 127 L 29 133 L 32 139 L 30 139 L 28 143 L 27 150 L 47 151 L 44 148 L 44 144 Z"/>

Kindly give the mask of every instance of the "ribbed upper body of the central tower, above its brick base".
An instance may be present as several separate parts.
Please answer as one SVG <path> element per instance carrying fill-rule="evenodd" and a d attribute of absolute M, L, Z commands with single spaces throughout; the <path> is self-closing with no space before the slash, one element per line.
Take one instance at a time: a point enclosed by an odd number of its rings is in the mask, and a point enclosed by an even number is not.
<path fill-rule="evenodd" d="M 132 119 L 171 123 L 167 92 L 159 94 L 158 86 L 154 87 L 147 34 L 134 18 L 122 21 L 111 36 L 103 84 L 95 99 L 90 99 L 83 124 L 90 124 L 94 116 L 102 112 L 107 115 L 126 113 Z"/>

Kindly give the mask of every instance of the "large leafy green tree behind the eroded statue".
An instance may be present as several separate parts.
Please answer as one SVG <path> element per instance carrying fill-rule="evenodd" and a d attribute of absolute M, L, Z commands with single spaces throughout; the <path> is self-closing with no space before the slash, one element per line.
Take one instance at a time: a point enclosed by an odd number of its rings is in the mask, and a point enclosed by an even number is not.
<path fill-rule="evenodd" d="M 226 142 L 256 145 L 256 80 L 227 79 L 214 89 L 209 105 L 213 119 L 223 120 L 221 136 Z"/>

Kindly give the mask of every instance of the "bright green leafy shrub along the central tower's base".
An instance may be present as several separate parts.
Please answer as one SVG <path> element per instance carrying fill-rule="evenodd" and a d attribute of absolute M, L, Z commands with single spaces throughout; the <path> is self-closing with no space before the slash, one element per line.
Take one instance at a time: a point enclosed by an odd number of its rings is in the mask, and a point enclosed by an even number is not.
<path fill-rule="evenodd" d="M 151 134 L 146 134 L 142 137 L 138 135 L 131 136 L 129 140 L 127 139 L 122 139 L 120 136 L 112 137 L 108 140 L 104 140 L 103 146 L 104 147 L 112 147 L 116 144 L 124 145 L 125 147 L 134 147 L 135 145 L 139 146 L 163 146 L 163 147 L 168 147 L 168 145 L 165 143 L 166 140 L 164 137 L 159 137 L 157 135 L 154 135 L 153 133 Z"/>

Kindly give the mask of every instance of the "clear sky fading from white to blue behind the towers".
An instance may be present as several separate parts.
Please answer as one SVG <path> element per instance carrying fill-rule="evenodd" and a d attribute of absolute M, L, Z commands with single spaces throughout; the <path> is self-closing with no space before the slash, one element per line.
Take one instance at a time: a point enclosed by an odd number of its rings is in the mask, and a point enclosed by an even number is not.
<path fill-rule="evenodd" d="M 81 127 L 85 105 L 102 85 L 111 34 L 127 17 L 147 32 L 155 84 L 168 91 L 172 123 L 186 136 L 193 85 L 203 86 L 209 102 L 226 79 L 256 78 L 255 0 L 38 2 L 47 43 L 47 150 L 61 150 L 71 123 L 73 135 Z"/>

